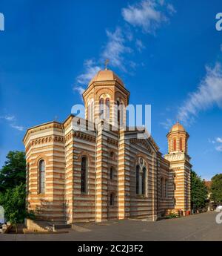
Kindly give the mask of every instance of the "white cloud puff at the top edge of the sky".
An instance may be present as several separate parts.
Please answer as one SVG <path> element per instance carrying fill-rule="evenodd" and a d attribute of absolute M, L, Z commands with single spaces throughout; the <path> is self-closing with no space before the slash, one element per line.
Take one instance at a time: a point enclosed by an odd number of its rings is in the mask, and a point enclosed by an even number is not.
<path fill-rule="evenodd" d="M 167 4 L 165 8 L 164 1 L 142 0 L 123 8 L 122 16 L 132 26 L 141 27 L 145 33 L 154 33 L 162 22 L 168 20 L 164 12 L 172 14 L 175 8 L 172 4 Z"/>

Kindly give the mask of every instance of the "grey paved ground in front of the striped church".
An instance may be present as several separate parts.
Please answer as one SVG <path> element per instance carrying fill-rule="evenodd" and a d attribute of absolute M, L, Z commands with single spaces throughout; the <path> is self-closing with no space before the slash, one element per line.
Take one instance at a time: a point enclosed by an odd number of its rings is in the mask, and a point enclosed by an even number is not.
<path fill-rule="evenodd" d="M 0 234 L 1 240 L 68 241 L 144 241 L 144 240 L 221 240 L 222 224 L 215 222 L 215 212 L 195 214 L 171 220 L 116 220 L 106 223 L 75 225 L 66 234 Z"/>

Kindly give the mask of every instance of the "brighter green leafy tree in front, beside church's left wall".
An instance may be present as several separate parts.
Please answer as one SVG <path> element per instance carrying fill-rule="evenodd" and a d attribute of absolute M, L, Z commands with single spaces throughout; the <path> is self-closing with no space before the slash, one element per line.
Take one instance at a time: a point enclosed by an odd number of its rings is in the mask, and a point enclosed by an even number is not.
<path fill-rule="evenodd" d="M 4 207 L 4 216 L 10 223 L 23 223 L 24 217 L 27 217 L 25 194 L 24 184 L 0 193 L 0 205 Z"/>

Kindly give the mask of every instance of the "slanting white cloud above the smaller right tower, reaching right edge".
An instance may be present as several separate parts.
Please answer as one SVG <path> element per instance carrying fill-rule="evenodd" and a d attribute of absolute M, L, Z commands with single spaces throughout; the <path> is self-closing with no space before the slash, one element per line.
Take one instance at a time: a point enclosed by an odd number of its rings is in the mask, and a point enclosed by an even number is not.
<path fill-rule="evenodd" d="M 222 68 L 216 63 L 214 68 L 206 67 L 206 76 L 198 86 L 198 90 L 190 93 L 188 99 L 178 110 L 178 120 L 186 125 L 193 122 L 200 111 L 222 107 Z"/>

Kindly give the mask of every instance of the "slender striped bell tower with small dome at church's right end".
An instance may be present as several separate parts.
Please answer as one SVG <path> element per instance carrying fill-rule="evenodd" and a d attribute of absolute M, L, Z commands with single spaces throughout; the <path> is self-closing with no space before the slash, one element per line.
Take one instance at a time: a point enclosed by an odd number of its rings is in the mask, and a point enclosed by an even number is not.
<path fill-rule="evenodd" d="M 190 211 L 190 171 L 192 165 L 188 155 L 187 141 L 189 134 L 184 126 L 177 122 L 166 135 L 168 140 L 169 175 L 172 185 L 173 209 L 182 210 L 184 214 Z"/>

